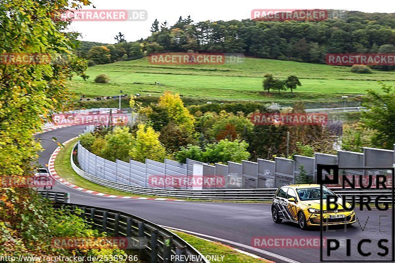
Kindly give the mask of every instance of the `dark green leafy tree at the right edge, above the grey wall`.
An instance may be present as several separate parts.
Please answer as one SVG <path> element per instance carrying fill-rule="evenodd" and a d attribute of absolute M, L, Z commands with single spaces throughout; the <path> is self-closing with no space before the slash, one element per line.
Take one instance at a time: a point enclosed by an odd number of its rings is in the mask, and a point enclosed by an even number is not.
<path fill-rule="evenodd" d="M 383 92 L 368 90 L 363 105 L 361 122 L 373 129 L 372 144 L 378 148 L 394 149 L 395 143 L 395 87 L 381 83 Z"/>

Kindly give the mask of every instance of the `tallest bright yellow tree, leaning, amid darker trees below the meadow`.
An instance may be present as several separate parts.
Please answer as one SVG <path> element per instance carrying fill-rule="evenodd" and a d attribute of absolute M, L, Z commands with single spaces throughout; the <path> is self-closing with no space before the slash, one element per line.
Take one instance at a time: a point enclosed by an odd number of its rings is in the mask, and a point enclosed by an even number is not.
<path fill-rule="evenodd" d="M 159 98 L 158 106 L 166 110 L 171 121 L 186 131 L 194 131 L 195 118 L 184 106 L 178 93 L 172 94 L 170 91 L 165 91 Z"/>

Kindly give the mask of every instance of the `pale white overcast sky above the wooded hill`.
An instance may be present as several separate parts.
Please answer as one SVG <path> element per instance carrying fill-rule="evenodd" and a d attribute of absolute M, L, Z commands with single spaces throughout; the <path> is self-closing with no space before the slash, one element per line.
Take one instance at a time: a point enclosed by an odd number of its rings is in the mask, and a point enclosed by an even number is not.
<path fill-rule="evenodd" d="M 135 41 L 151 35 L 150 28 L 157 18 L 160 22 L 167 20 L 170 25 L 178 18 L 191 15 L 195 21 L 206 20 L 241 20 L 251 16 L 253 9 L 345 9 L 363 12 L 395 13 L 395 4 L 388 0 L 91 0 L 96 9 L 144 9 L 148 12 L 147 21 L 91 22 L 75 21 L 70 29 L 82 34 L 80 40 L 114 43 L 118 32 L 125 35 L 127 41 Z M 91 9 L 91 7 L 84 7 Z"/>

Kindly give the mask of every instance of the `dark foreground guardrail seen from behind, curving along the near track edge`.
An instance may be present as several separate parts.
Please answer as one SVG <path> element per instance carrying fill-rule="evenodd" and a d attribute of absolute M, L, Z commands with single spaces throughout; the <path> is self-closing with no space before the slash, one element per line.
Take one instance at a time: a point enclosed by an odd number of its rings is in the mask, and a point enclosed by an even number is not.
<path fill-rule="evenodd" d="M 90 219 L 92 225 L 112 236 L 147 238 L 144 248 L 139 249 L 139 258 L 151 263 L 187 263 L 185 259 L 197 259 L 193 263 L 209 263 L 204 256 L 188 242 L 171 231 L 150 221 L 127 213 L 98 208 L 93 206 L 70 204 L 69 193 L 39 191 L 48 199 L 54 200 L 55 208 L 66 208 L 70 211 L 79 208 L 83 211 L 80 216 Z M 178 257 L 176 257 L 178 256 Z M 181 257 L 184 256 L 184 257 Z M 189 261 L 192 262 L 192 261 Z"/>

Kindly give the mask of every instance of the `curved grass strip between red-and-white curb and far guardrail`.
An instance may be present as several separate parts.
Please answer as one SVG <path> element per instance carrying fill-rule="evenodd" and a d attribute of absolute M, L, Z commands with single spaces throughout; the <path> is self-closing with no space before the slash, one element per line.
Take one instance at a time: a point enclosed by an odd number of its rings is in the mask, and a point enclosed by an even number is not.
<path fill-rule="evenodd" d="M 162 198 L 163 196 L 154 196 L 154 195 L 142 195 L 142 194 L 134 194 L 130 192 L 120 191 L 113 188 L 104 187 L 95 183 L 92 183 L 82 177 L 80 177 L 71 167 L 70 163 L 70 155 L 71 151 L 73 150 L 73 146 L 77 143 L 78 138 L 70 141 L 68 144 L 62 148 L 56 159 L 55 159 L 55 170 L 58 175 L 63 178 L 64 180 L 92 191 L 108 193 L 113 195 L 122 195 L 122 196 L 139 196 L 139 197 L 151 197 L 151 198 Z M 166 196 L 164 198 L 169 199 L 179 199 L 179 200 L 186 200 L 186 201 L 200 201 L 200 202 L 238 202 L 238 203 L 268 203 L 268 201 L 222 201 L 222 200 L 204 200 L 204 199 L 191 199 L 191 198 L 176 198 L 171 196 Z"/>

